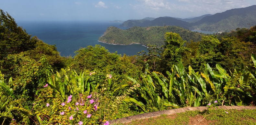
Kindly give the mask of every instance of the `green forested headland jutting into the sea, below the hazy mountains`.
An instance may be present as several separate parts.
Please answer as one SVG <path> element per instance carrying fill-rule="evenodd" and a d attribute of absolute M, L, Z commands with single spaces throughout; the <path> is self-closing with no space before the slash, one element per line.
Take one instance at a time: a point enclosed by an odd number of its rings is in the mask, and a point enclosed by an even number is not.
<path fill-rule="evenodd" d="M 117 27 L 111 26 L 106 30 L 104 35 L 99 37 L 99 41 L 124 45 L 140 43 L 145 46 L 147 46 L 148 44 L 162 46 L 164 45 L 164 34 L 166 32 L 175 32 L 181 34 L 181 37 L 188 42 L 199 41 L 203 35 L 209 35 L 192 32 L 178 26 L 135 26 L 127 30 L 122 30 Z"/>

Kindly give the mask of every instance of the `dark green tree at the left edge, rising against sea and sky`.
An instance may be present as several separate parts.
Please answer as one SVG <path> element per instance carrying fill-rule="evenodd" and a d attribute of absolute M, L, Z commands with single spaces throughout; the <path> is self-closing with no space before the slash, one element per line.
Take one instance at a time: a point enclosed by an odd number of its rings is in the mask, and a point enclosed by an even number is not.
<path fill-rule="evenodd" d="M 0 9 L 0 60 L 8 54 L 20 53 L 35 48 L 37 39 L 31 38 L 14 18 Z"/>

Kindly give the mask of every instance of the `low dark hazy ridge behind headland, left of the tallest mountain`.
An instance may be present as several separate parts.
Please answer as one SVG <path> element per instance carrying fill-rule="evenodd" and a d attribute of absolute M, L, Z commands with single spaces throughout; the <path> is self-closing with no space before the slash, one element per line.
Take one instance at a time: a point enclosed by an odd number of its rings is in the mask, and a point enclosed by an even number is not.
<path fill-rule="evenodd" d="M 181 20 L 177 20 L 175 18 L 172 17 L 158 17 L 154 20 L 127 20 L 125 22 L 123 22 L 123 24 L 121 24 L 120 26 L 123 27 L 134 27 L 134 26 L 141 26 L 141 27 L 146 27 L 146 26 L 165 26 L 165 25 L 169 25 L 169 26 L 180 26 L 183 28 L 188 29 L 190 27 L 190 23 L 185 22 L 185 21 L 181 21 Z"/>

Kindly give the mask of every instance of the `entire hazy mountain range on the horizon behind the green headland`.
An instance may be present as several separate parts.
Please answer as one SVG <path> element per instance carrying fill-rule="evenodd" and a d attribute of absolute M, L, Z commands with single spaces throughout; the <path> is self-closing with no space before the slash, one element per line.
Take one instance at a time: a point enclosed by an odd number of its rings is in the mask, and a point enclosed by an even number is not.
<path fill-rule="evenodd" d="M 236 28 L 250 28 L 256 25 L 256 5 L 245 8 L 237 8 L 227 10 L 214 15 L 202 15 L 192 19 L 180 19 L 173 17 L 159 17 L 152 21 L 150 20 L 128 20 L 123 22 L 121 26 L 164 26 L 176 25 L 185 29 L 200 29 L 205 31 L 215 32 L 230 32 Z"/>

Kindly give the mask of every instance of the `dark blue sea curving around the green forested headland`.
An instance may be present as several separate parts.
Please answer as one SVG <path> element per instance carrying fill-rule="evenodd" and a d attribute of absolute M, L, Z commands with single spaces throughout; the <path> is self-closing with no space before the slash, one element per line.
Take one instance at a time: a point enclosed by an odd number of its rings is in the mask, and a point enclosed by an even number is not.
<path fill-rule="evenodd" d="M 111 53 L 136 55 L 146 47 L 140 44 L 112 45 L 101 43 L 99 37 L 109 26 L 119 27 L 120 23 L 108 22 L 17 22 L 28 34 L 37 36 L 47 44 L 55 44 L 62 56 L 74 56 L 75 51 L 95 44 L 104 46 Z M 124 29 L 123 27 L 119 27 Z"/>

